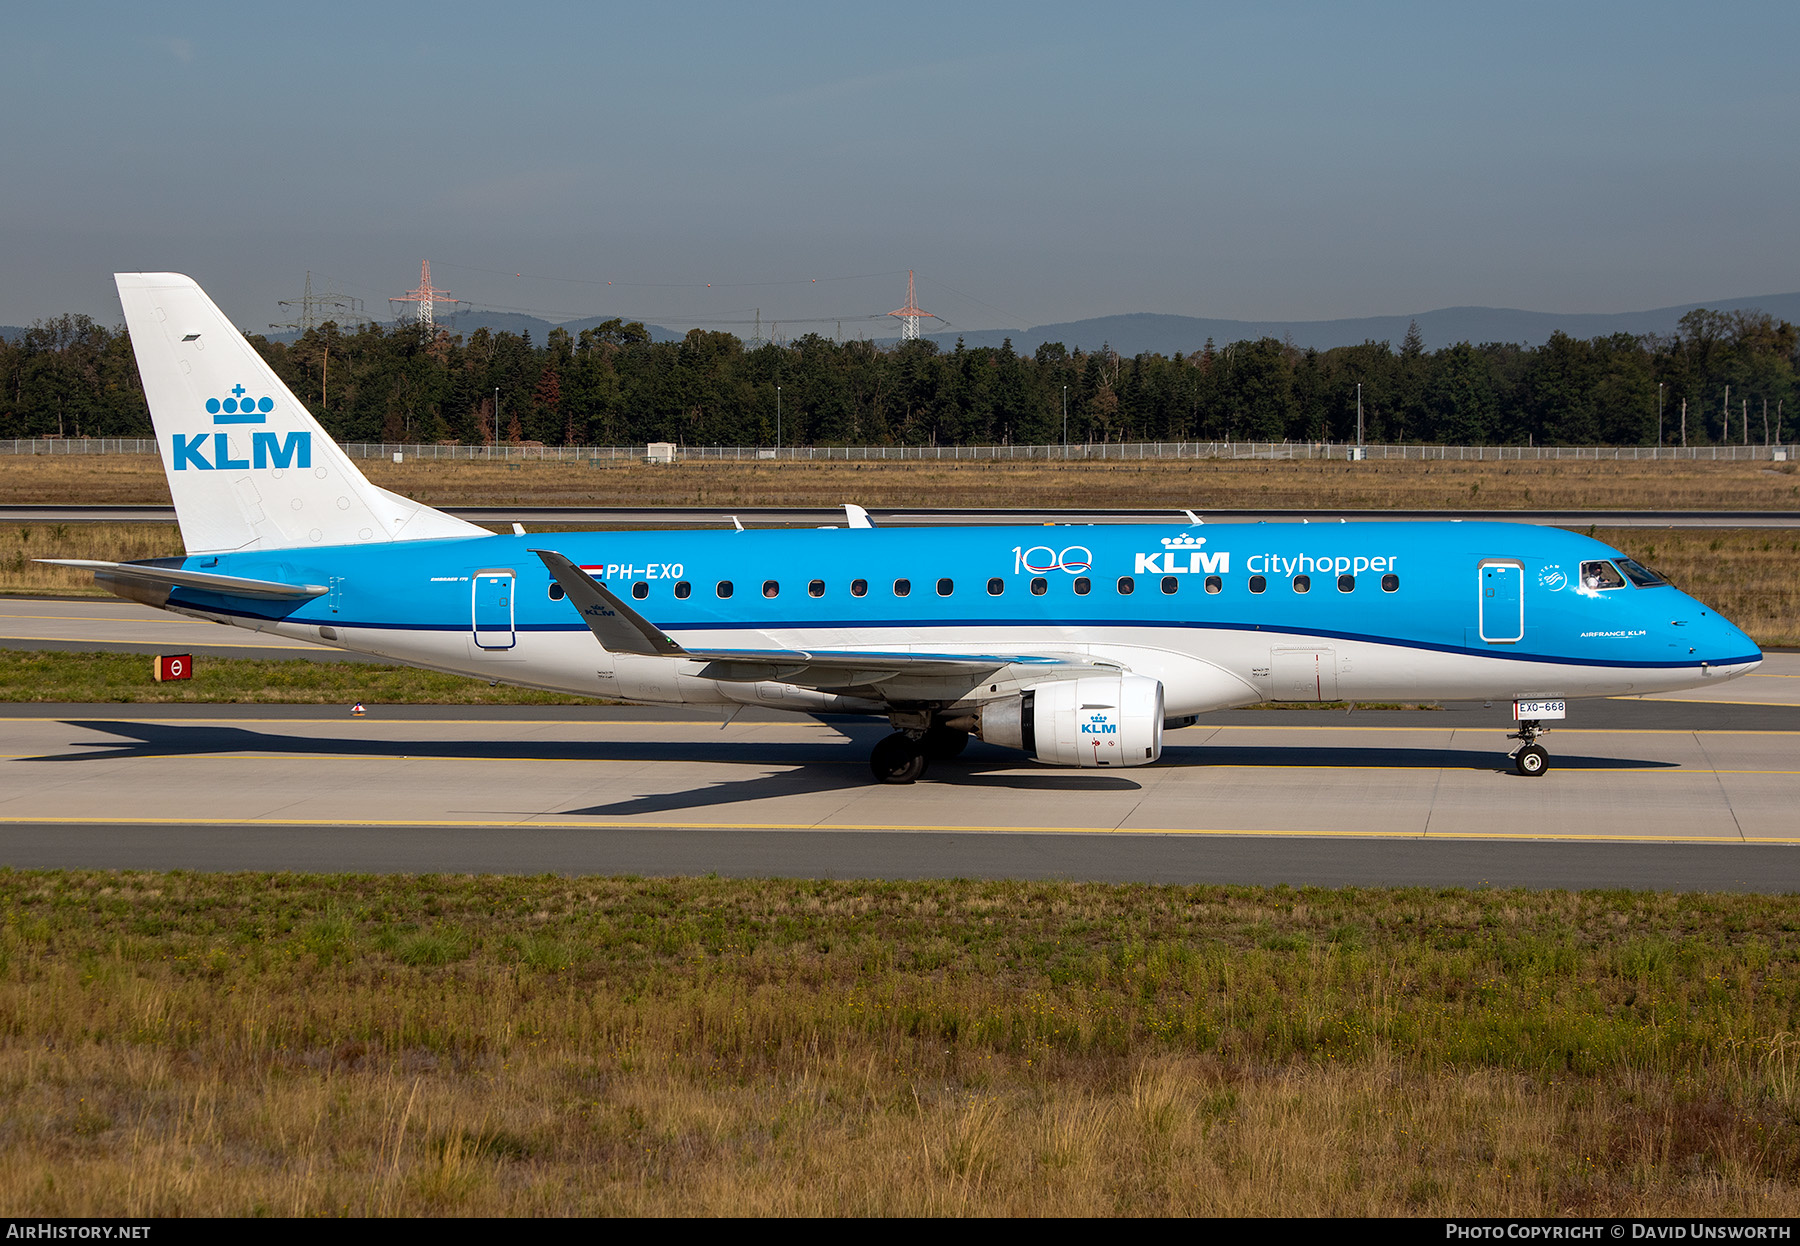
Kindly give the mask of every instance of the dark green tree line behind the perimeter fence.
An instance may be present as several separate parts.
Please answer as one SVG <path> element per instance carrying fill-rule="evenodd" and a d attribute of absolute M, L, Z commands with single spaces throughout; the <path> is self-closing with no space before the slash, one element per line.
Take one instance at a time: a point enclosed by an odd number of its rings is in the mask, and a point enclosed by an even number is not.
<path fill-rule="evenodd" d="M 1082 445 L 1352 441 L 1665 445 L 1793 438 L 1800 330 L 1760 312 L 1681 317 L 1667 337 L 1537 348 L 1328 351 L 1276 339 L 1121 357 L 1046 342 L 941 349 L 806 335 L 747 348 L 693 330 L 652 342 L 608 321 L 571 335 L 324 324 L 250 342 L 340 441 L 544 445 Z M 0 438 L 148 438 L 124 328 L 83 315 L 0 339 Z M 1361 391 L 1359 391 L 1361 385 Z"/>

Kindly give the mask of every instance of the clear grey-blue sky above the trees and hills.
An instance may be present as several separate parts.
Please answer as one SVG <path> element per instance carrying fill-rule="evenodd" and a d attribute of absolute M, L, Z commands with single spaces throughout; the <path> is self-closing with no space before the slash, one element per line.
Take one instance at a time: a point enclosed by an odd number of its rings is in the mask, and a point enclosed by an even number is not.
<path fill-rule="evenodd" d="M 0 322 L 189 272 L 846 335 L 1800 288 L 1795 4 L 38 4 Z M 607 284 L 607 283 L 614 284 Z M 711 283 L 711 286 L 707 284 Z M 810 324 L 803 324 L 812 321 Z"/>

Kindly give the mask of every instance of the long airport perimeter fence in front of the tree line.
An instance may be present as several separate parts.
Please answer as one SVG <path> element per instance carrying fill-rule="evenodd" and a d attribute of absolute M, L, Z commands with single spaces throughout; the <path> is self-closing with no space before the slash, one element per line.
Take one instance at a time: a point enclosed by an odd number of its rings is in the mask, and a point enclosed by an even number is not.
<path fill-rule="evenodd" d="M 391 445 L 385 441 L 349 441 L 344 452 L 353 459 L 392 459 L 412 463 L 580 463 L 612 466 L 648 461 L 675 463 L 1060 463 L 1060 461 L 1138 461 L 1138 459 L 1417 459 L 1456 463 L 1589 459 L 1589 461 L 1672 461 L 1672 463 L 1768 463 L 1795 461 L 1800 445 L 1705 445 L 1705 447 L 1591 447 L 1591 445 L 1345 445 L 1337 441 L 1111 441 L 1094 445 L 877 445 L 877 447 L 682 447 L 666 443 L 625 447 L 578 445 Z M 155 438 L 16 438 L 0 439 L 0 454 L 155 454 Z M 673 457 L 662 457 L 673 456 Z"/>

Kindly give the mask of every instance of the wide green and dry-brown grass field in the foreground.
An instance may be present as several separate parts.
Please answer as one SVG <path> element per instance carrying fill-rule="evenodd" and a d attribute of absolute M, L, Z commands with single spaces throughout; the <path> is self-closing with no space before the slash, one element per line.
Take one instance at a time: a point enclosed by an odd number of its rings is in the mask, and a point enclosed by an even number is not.
<path fill-rule="evenodd" d="M 13 1215 L 1796 1215 L 1791 898 L 0 870 Z"/>

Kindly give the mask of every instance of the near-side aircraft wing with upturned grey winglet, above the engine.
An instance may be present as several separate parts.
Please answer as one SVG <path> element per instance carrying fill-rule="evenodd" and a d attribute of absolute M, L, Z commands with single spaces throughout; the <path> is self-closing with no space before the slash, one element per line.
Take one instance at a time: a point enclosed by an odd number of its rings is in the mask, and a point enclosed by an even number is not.
<path fill-rule="evenodd" d="M 533 549 L 581 621 L 603 648 L 614 654 L 680 657 L 706 663 L 704 679 L 756 682 L 774 679 L 790 684 L 855 686 L 875 684 L 896 675 L 985 679 L 1006 666 L 1098 668 L 1111 666 L 1082 655 L 1060 654 L 914 654 L 882 650 L 797 650 L 797 648 L 684 648 L 664 636 L 650 619 L 619 600 L 607 585 L 553 549 Z"/>

